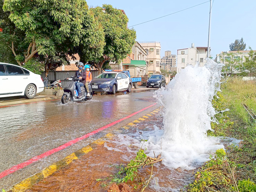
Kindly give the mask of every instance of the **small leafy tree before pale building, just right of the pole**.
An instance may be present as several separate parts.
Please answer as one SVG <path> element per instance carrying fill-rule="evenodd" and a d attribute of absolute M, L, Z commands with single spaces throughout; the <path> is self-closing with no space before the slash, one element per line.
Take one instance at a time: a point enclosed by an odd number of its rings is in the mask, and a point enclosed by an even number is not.
<path fill-rule="evenodd" d="M 220 55 L 221 60 L 225 64 L 222 68 L 224 74 L 232 75 L 235 71 L 242 71 L 241 57 L 238 56 L 239 54 L 241 53 L 223 53 Z"/>

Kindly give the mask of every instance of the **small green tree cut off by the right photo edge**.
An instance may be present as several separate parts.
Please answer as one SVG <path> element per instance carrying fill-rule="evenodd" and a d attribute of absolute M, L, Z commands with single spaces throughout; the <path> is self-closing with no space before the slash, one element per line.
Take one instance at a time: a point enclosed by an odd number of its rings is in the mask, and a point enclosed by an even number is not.
<path fill-rule="evenodd" d="M 245 58 L 245 63 L 243 64 L 245 71 L 248 72 L 250 79 L 254 79 L 256 77 L 256 52 L 249 47 L 249 57 Z"/>

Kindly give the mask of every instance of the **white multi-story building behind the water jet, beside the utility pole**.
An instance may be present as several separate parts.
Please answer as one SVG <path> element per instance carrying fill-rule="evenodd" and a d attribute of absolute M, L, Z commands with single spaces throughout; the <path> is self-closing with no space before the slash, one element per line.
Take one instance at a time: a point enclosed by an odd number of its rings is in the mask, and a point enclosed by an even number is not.
<path fill-rule="evenodd" d="M 210 49 L 211 50 L 211 49 Z M 177 73 L 184 69 L 187 64 L 195 66 L 196 61 L 203 67 L 206 64 L 207 47 L 194 47 L 191 44 L 191 48 L 178 49 L 177 50 Z"/>

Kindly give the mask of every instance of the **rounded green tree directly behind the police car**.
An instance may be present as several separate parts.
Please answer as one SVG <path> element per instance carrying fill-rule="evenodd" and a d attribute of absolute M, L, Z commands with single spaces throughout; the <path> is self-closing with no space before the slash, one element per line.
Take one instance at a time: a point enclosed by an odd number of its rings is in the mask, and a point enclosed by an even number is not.
<path fill-rule="evenodd" d="M 103 7 L 95 7 L 90 10 L 94 13 L 95 20 L 103 27 L 103 49 L 100 52 L 98 47 L 96 49 L 88 48 L 83 44 L 80 47 L 79 56 L 82 60 L 95 66 L 100 74 L 102 67 L 108 65 L 110 61 L 120 63 L 127 57 L 127 54 L 131 53 L 132 46 L 135 44 L 136 32 L 127 28 L 127 16 L 121 10 L 113 8 L 112 5 L 104 4 Z"/>

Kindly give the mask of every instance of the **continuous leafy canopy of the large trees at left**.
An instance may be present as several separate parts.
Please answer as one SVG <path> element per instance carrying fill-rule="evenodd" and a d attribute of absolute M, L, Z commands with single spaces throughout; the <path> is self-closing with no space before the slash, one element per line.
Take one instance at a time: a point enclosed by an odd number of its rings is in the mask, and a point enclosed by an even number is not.
<path fill-rule="evenodd" d="M 110 61 L 120 63 L 135 44 L 127 16 L 111 5 L 89 9 L 84 0 L 0 0 L 0 6 L 0 54 L 9 58 L 12 52 L 10 59 L 20 66 L 37 71 L 43 66 L 46 74 L 69 64 L 75 53 L 100 72 Z"/>

